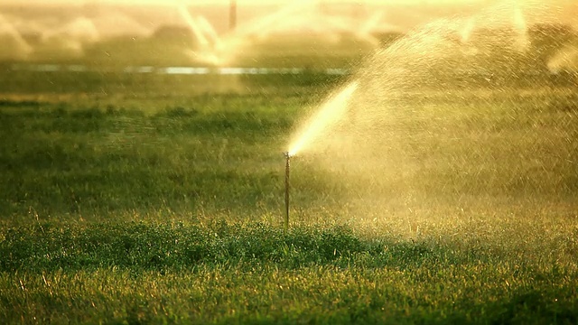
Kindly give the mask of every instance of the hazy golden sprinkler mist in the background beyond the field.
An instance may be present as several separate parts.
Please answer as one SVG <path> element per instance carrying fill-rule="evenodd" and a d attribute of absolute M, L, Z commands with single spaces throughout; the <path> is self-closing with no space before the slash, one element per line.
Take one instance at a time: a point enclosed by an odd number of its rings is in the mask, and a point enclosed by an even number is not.
<path fill-rule="evenodd" d="M 327 66 L 348 67 L 417 25 L 470 16 L 486 2 L 243 2 L 231 28 L 228 2 L 161 5 L 111 3 L 0 4 L 0 60 L 119 65 Z M 537 22 L 523 3 L 517 30 Z M 559 2 L 541 12 L 540 21 L 574 26 L 576 5 Z M 511 15 L 512 13 L 506 12 Z M 500 17 L 477 19 L 492 25 Z M 522 23 L 522 24 L 521 24 Z M 461 29 L 467 31 L 467 28 Z M 468 32 L 465 32 L 466 34 Z M 461 37 L 468 37 L 468 35 Z M 524 46 L 527 40 L 520 39 Z M 136 53 L 136 55 L 135 55 Z M 331 62 L 329 62 L 331 61 Z"/>

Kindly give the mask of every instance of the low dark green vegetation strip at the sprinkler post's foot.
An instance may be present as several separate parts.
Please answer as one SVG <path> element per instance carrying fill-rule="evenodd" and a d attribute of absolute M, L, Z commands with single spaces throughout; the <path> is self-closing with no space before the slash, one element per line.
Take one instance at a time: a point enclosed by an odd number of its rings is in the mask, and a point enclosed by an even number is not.
<path fill-rule="evenodd" d="M 350 261 L 369 249 L 350 229 L 295 228 L 263 223 L 213 222 L 208 226 L 143 222 L 57 226 L 39 223 L 7 230 L 4 272 L 79 271 L 118 267 L 135 271 L 194 269 L 200 265 L 261 264 L 295 269 Z M 239 267 L 240 267 L 239 266 Z"/>

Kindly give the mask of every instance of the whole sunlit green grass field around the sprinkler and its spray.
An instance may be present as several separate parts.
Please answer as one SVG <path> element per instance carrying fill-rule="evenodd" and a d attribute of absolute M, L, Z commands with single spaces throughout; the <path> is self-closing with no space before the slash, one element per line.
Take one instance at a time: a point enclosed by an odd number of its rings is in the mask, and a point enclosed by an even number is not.
<path fill-rule="evenodd" d="M 436 159 L 415 186 L 371 192 L 295 157 L 284 232 L 282 152 L 337 81 L 210 94 L 176 77 L 24 77 L 0 86 L 6 323 L 578 323 L 575 89 L 484 94 L 460 115 L 415 103 L 440 126 L 483 119 L 484 154 L 505 158 L 489 174 Z M 517 118 L 487 115 L 499 107 Z M 420 139 L 413 153 L 480 157 Z"/>

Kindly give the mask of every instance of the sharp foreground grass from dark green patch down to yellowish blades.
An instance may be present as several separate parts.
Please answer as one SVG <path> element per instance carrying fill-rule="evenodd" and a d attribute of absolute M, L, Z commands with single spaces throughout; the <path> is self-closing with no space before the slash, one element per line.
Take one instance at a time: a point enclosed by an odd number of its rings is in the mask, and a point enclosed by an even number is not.
<path fill-rule="evenodd" d="M 516 239 L 501 238 L 504 247 L 391 235 L 39 223 L 5 234 L 0 311 L 14 322 L 576 321 L 575 269 L 547 261 L 553 238 L 525 251 Z"/>

